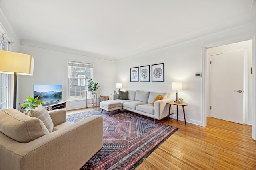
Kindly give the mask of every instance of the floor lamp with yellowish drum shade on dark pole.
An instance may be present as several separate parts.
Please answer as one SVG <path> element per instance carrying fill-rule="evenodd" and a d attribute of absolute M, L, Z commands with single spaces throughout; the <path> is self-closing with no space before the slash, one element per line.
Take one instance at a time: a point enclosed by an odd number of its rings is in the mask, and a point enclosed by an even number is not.
<path fill-rule="evenodd" d="M 17 75 L 33 75 L 34 58 L 32 55 L 0 50 L 0 73 L 14 74 L 13 108 L 17 107 Z"/>

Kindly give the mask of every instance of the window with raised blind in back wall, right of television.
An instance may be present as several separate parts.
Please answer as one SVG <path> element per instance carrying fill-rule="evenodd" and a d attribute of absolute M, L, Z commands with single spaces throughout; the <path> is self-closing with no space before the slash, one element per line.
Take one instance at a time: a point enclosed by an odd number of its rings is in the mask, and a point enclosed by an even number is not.
<path fill-rule="evenodd" d="M 68 100 L 84 99 L 88 78 L 92 78 L 92 64 L 68 61 Z"/>

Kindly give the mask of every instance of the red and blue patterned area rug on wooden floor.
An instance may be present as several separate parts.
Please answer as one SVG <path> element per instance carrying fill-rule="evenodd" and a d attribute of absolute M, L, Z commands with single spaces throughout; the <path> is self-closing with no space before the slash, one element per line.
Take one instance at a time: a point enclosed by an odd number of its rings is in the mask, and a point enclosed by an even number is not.
<path fill-rule="evenodd" d="M 67 115 L 67 121 L 77 122 L 92 115 L 103 117 L 103 148 L 81 170 L 134 169 L 178 130 L 124 111 L 112 111 L 108 116 L 101 109 Z"/>

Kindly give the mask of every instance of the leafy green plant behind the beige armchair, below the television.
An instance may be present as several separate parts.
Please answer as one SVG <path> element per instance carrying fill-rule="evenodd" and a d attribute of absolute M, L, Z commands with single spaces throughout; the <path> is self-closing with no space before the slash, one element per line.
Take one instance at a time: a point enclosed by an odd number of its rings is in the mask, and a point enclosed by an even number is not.
<path fill-rule="evenodd" d="M 28 115 L 28 112 L 31 109 L 36 108 L 37 106 L 39 106 L 40 104 L 43 104 L 45 102 L 38 100 L 38 97 L 36 98 L 32 98 L 30 96 L 28 96 L 28 98 L 25 100 L 23 99 L 23 101 L 25 101 L 22 105 L 20 105 L 20 111 L 24 110 L 24 114 Z"/>

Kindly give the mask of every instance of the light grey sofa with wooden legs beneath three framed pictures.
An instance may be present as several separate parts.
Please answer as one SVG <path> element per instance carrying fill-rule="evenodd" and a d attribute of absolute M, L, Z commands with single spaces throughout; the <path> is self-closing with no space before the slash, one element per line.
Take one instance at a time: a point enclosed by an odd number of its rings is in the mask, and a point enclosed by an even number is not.
<path fill-rule="evenodd" d="M 159 94 L 163 99 L 155 101 L 155 106 L 152 106 L 152 102 Z M 153 118 L 154 123 L 156 123 L 156 119 L 161 120 L 168 117 L 166 103 L 171 99 L 167 98 L 167 96 L 167 93 L 128 90 L 128 99 L 119 99 L 119 94 L 112 94 L 112 100 L 122 103 L 123 109 Z"/>

